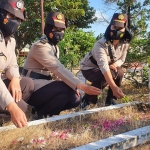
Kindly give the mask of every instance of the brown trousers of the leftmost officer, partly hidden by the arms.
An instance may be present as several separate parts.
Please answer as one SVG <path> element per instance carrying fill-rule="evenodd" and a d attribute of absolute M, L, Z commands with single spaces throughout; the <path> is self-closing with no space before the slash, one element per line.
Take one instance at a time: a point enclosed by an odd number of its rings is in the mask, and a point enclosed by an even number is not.
<path fill-rule="evenodd" d="M 3 80 L 3 82 L 8 88 L 10 80 L 5 79 Z M 26 102 L 28 101 L 32 93 L 34 92 L 33 80 L 27 77 L 22 77 L 22 79 L 20 80 L 20 87 L 21 87 L 21 92 L 22 92 L 22 99 L 19 102 L 17 102 L 17 105 L 22 109 L 22 111 L 26 112 L 27 110 Z"/>

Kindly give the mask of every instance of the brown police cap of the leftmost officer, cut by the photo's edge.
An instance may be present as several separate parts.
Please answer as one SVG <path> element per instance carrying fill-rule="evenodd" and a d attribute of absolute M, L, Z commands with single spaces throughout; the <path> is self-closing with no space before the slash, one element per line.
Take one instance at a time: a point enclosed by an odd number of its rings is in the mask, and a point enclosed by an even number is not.
<path fill-rule="evenodd" d="M 25 19 L 23 0 L 2 0 L 0 2 L 0 8 L 10 12 L 22 20 Z"/>

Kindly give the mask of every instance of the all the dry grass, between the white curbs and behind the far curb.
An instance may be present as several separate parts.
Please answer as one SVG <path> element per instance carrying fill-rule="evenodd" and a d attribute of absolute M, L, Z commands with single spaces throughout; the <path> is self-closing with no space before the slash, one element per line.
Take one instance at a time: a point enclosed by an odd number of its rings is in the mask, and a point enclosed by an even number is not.
<path fill-rule="evenodd" d="M 121 87 L 126 94 L 126 101 L 148 102 L 148 88 L 142 87 L 135 89 L 130 83 L 123 83 Z M 105 102 L 107 89 L 102 93 L 96 105 L 90 105 L 89 108 L 103 107 Z M 123 100 L 117 100 L 122 103 Z M 15 129 L 11 131 L 1 132 L 0 149 L 16 150 L 16 149 L 42 149 L 44 150 L 67 150 L 71 147 L 77 147 L 92 141 L 100 140 L 112 135 L 133 130 L 150 124 L 149 108 L 140 107 L 124 107 L 123 109 L 111 110 L 107 112 L 99 112 L 94 115 L 82 116 L 82 118 L 74 118 L 72 120 L 57 121 L 55 123 L 47 123 L 44 125 Z M 139 111 L 140 108 L 140 112 Z M 75 108 L 61 112 L 61 114 L 80 111 Z M 28 120 L 33 120 L 31 115 L 31 107 L 29 107 Z M 144 118 L 147 116 L 147 118 Z M 143 118 L 142 118 L 143 117 Z M 11 124 L 5 123 L 4 126 Z"/>

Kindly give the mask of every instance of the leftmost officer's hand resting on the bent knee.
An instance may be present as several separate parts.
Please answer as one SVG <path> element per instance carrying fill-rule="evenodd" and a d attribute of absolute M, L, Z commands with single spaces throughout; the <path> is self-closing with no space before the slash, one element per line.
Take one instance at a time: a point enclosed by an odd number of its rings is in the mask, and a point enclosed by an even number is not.
<path fill-rule="evenodd" d="M 8 86 L 8 90 L 12 93 L 12 97 L 16 102 L 20 101 L 22 98 L 22 92 L 20 88 L 20 79 L 13 77 Z"/>

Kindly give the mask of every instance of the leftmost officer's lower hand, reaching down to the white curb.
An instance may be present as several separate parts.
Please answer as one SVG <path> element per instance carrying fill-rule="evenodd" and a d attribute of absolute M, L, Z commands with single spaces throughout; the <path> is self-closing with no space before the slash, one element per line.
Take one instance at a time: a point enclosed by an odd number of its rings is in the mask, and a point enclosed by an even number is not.
<path fill-rule="evenodd" d="M 24 112 L 15 102 L 10 103 L 6 108 L 10 112 L 11 120 L 17 128 L 27 126 L 27 119 Z"/>

